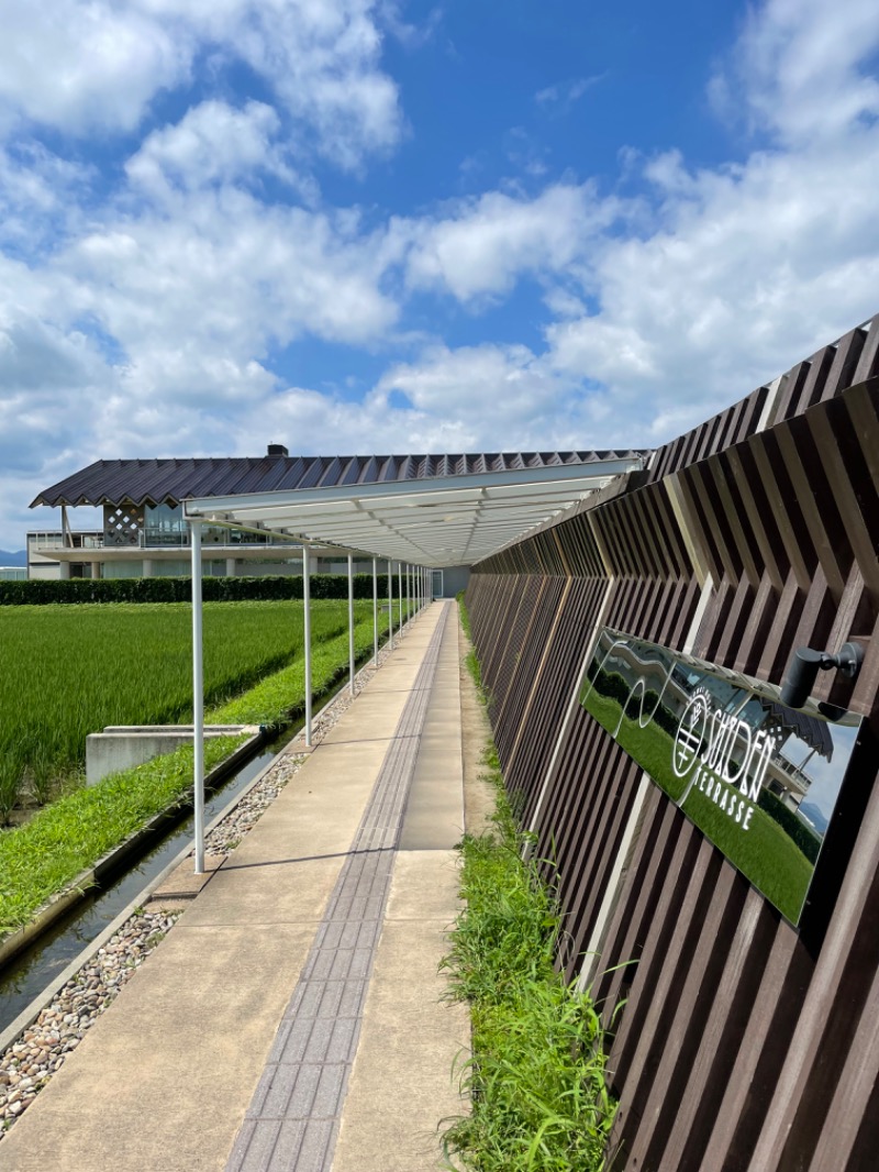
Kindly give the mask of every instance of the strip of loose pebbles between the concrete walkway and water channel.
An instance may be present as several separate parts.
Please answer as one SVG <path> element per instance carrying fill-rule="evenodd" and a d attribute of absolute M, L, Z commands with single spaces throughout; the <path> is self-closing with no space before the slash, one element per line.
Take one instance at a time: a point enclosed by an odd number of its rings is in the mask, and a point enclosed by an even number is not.
<path fill-rule="evenodd" d="M 379 667 L 388 654 L 386 645 L 379 650 Z M 313 743 L 319 743 L 327 735 L 375 672 L 376 665 L 370 660 L 354 679 L 354 696 L 349 688 L 343 688 L 314 717 Z M 206 850 L 223 857 L 231 854 L 306 759 L 289 750 L 282 754 L 213 827 L 205 839 Z M 179 911 L 145 911 L 132 915 L 61 988 L 19 1041 L 0 1055 L 0 1140 L 113 1003 L 123 984 L 158 947 L 180 914 Z"/>

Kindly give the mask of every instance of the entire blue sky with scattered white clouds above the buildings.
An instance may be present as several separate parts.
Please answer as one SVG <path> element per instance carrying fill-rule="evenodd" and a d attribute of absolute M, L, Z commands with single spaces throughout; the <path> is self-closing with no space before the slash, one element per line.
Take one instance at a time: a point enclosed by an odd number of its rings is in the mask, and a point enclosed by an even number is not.
<path fill-rule="evenodd" d="M 97 458 L 652 447 L 879 311 L 874 0 L 2 0 L 0 547 Z"/>

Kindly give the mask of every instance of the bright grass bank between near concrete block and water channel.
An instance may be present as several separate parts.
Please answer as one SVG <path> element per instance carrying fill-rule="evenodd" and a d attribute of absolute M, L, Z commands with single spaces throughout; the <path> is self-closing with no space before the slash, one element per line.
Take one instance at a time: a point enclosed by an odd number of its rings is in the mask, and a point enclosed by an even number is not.
<path fill-rule="evenodd" d="M 246 740 L 205 743 L 210 770 Z M 0 833 L 0 935 L 28 924 L 42 905 L 192 789 L 192 747 L 104 778 Z"/>

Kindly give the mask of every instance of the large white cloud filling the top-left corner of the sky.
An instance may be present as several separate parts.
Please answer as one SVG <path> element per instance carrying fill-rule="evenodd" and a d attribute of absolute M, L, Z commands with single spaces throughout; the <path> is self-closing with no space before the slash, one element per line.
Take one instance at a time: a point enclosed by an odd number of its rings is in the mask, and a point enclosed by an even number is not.
<path fill-rule="evenodd" d="M 382 71 L 373 0 L 7 0 L 0 125 L 9 115 L 73 134 L 135 130 L 199 53 L 244 61 L 311 146 L 345 168 L 393 146 L 397 89 Z"/>

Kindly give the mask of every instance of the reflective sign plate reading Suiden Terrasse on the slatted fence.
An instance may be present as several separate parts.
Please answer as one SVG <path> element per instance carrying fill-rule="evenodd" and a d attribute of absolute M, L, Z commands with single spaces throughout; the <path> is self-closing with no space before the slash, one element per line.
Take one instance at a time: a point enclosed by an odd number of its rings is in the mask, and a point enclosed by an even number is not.
<path fill-rule="evenodd" d="M 580 703 L 797 925 L 861 718 L 609 627 Z"/>

